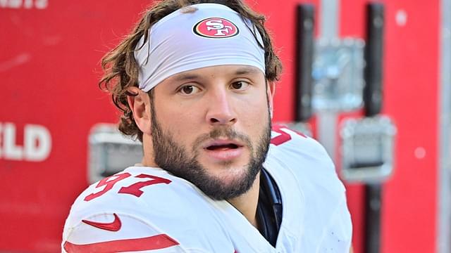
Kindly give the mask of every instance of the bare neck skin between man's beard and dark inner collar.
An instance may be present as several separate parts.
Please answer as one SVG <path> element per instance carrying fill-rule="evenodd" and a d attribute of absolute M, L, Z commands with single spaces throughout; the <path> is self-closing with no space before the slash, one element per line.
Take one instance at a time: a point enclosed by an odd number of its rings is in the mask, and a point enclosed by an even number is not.
<path fill-rule="evenodd" d="M 257 174 L 252 187 L 247 193 L 227 200 L 233 207 L 240 211 L 252 224 L 252 226 L 258 228 L 257 224 L 257 204 L 259 202 L 259 190 L 260 190 L 260 173 Z"/>

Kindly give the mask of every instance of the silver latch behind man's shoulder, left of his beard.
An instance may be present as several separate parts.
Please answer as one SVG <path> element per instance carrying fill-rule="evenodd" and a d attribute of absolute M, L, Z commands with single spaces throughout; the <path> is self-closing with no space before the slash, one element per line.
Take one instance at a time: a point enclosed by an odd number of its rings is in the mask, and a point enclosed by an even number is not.
<path fill-rule="evenodd" d="M 121 134 L 114 124 L 96 124 L 89 134 L 89 183 L 111 176 L 142 160 L 142 144 Z"/>

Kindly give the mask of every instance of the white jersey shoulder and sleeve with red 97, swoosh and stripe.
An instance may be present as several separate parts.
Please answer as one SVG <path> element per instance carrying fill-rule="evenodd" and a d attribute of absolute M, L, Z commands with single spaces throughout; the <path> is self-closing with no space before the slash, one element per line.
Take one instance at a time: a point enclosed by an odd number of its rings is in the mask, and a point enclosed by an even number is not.
<path fill-rule="evenodd" d="M 165 171 L 127 169 L 78 196 L 66 219 L 61 250 L 233 253 L 221 227 L 199 213 L 201 205 L 206 204 L 197 190 Z"/>

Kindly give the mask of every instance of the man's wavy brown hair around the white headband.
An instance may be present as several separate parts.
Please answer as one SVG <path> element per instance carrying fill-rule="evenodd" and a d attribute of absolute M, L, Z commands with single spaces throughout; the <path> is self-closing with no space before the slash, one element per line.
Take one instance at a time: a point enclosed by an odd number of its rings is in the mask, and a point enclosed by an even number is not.
<path fill-rule="evenodd" d="M 136 94 L 128 91 L 128 87 L 138 86 L 137 80 L 140 66 L 137 64 L 134 55 L 138 41 L 140 41 L 142 36 L 144 36 L 144 41 L 147 41 L 149 28 L 166 15 L 185 6 L 202 3 L 215 3 L 228 6 L 237 13 L 240 13 L 243 18 L 249 19 L 254 24 L 263 38 L 263 45 L 261 46 L 265 51 L 266 79 L 269 82 L 278 80 L 282 70 L 282 64 L 280 63 L 278 56 L 276 56 L 276 53 L 274 53 L 271 37 L 264 27 L 265 17 L 264 15 L 252 11 L 252 9 L 249 8 L 249 6 L 246 6 L 242 0 L 159 1 L 144 12 L 141 20 L 137 22 L 133 31 L 121 41 L 121 44 L 116 46 L 116 48 L 113 48 L 113 50 L 107 53 L 101 60 L 104 76 L 101 78 L 99 86 L 102 90 L 111 93 L 114 105 L 121 110 L 123 115 L 121 115 L 119 130 L 123 134 L 136 136 L 138 140 L 142 141 L 142 131 L 137 127 L 127 101 L 128 96 L 136 96 Z M 255 32 L 253 32 L 253 34 L 255 35 Z M 152 90 L 149 92 L 152 93 Z"/>

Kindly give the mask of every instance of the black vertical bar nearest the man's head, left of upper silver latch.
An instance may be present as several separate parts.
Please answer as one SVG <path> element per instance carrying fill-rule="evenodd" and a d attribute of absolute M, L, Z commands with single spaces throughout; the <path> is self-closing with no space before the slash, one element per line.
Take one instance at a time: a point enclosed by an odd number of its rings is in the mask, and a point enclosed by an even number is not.
<path fill-rule="evenodd" d="M 314 14 L 315 8 L 311 4 L 297 6 L 297 71 L 295 93 L 295 120 L 304 122 L 311 115 L 311 68 L 314 54 Z"/>

